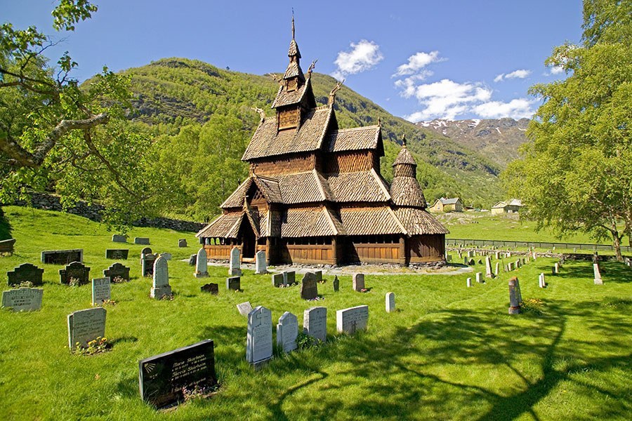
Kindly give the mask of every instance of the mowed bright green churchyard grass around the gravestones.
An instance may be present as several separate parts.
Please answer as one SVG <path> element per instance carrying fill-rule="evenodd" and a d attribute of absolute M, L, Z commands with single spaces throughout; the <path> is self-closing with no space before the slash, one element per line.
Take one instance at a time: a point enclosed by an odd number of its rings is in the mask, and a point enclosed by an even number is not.
<path fill-rule="evenodd" d="M 15 420 L 627 420 L 632 415 L 632 271 L 603 264 L 603 286 L 593 284 L 590 262 L 568 262 L 550 276 L 553 260 L 538 259 L 499 279 L 474 283 L 474 274 L 367 275 L 369 293 L 351 290 L 341 276 L 319 285 L 323 301 L 305 302 L 298 287 L 273 288 L 269 275 L 247 271 L 241 293 L 225 289 L 226 267 L 209 267 L 195 279 L 180 259 L 197 251 L 190 233 L 133 229 L 149 236 L 169 262 L 173 301 L 149 298 L 151 281 L 139 277 L 143 246 L 112 243 L 98 224 L 72 215 L 5 207 L 18 239 L 15 254 L 0 258 L 6 271 L 22 262 L 44 267 L 39 312 L 0 311 L 0 416 Z M 178 248 L 186 238 L 189 247 Z M 106 248 L 129 248 L 129 283 L 112 285 L 106 335 L 113 347 L 75 356 L 67 345 L 66 316 L 90 307 L 90 286 L 59 282 L 60 266 L 39 262 L 41 250 L 84 248 L 91 277 L 112 264 Z M 455 260 L 456 255 L 454 256 Z M 272 268 L 273 269 L 273 268 Z M 484 267 L 475 271 L 485 272 Z M 538 288 L 546 274 L 548 288 Z M 518 276 L 522 297 L 541 300 L 508 316 L 507 281 Z M 300 276 L 298 277 L 300 279 Z M 217 296 L 200 293 L 220 284 Z M 395 293 L 397 312 L 384 296 Z M 329 342 L 275 357 L 255 371 L 245 361 L 246 319 L 235 305 L 250 301 L 272 310 L 327 307 Z M 369 329 L 338 335 L 336 309 L 369 305 Z M 138 361 L 212 339 L 221 388 L 166 413 L 147 406 L 138 392 Z M 275 350 L 276 353 L 276 350 Z"/>

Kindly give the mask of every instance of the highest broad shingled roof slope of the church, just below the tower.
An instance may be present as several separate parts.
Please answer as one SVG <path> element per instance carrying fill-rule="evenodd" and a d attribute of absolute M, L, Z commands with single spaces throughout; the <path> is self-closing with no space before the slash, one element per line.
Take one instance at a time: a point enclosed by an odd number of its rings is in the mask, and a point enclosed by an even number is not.
<path fill-rule="evenodd" d="M 298 130 L 277 131 L 276 119 L 265 119 L 255 131 L 242 161 L 320 149 L 333 112 L 331 105 L 310 110 Z"/>

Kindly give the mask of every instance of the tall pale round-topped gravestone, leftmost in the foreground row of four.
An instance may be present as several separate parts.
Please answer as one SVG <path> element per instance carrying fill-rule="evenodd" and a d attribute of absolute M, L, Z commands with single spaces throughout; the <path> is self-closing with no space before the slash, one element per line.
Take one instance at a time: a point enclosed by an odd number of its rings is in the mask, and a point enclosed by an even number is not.
<path fill-rule="evenodd" d="M 248 314 L 246 361 L 262 363 L 272 358 L 272 312 L 257 306 Z"/>

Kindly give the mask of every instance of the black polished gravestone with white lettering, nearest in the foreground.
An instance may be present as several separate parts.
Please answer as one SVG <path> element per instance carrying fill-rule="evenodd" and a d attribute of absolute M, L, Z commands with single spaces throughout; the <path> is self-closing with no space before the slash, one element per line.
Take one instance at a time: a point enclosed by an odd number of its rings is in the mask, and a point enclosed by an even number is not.
<path fill-rule="evenodd" d="M 183 388 L 209 389 L 217 385 L 213 341 L 150 356 L 138 362 L 140 396 L 156 408 L 184 401 Z"/>

